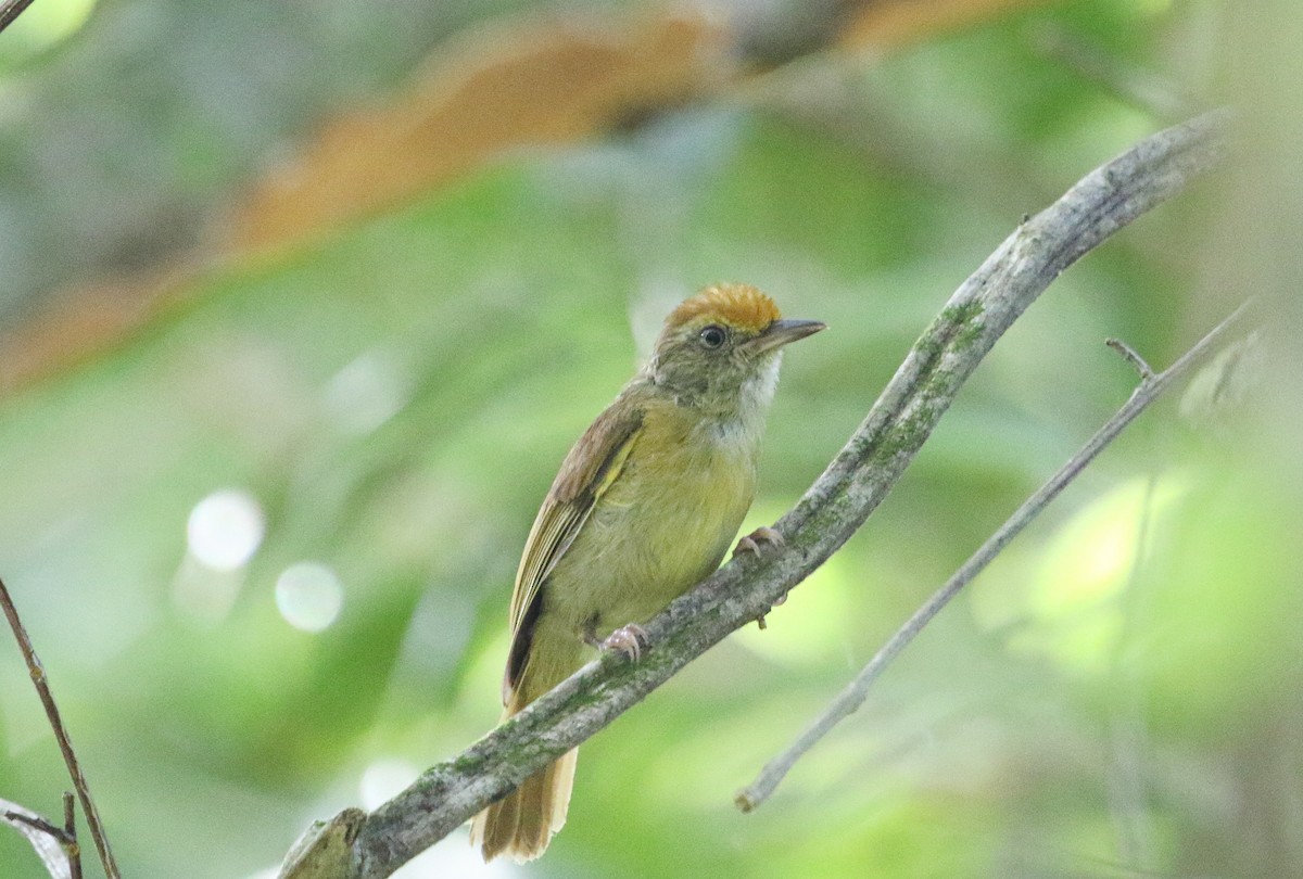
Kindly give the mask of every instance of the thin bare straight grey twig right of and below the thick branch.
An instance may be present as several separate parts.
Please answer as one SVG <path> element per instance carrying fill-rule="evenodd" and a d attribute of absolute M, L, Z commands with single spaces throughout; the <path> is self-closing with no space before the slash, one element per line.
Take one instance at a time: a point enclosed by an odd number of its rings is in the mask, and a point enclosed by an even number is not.
<path fill-rule="evenodd" d="M 823 738 L 839 721 L 853 714 L 861 705 L 864 705 L 865 698 L 868 698 L 869 688 L 873 682 L 886 671 L 886 667 L 895 659 L 896 654 L 904 650 L 911 641 L 923 632 L 924 626 L 937 616 L 941 609 L 950 603 L 950 600 L 959 594 L 959 591 L 967 586 L 972 579 L 980 574 L 990 561 L 998 556 L 1009 542 L 1012 540 L 1018 534 L 1027 527 L 1041 510 L 1044 510 L 1052 500 L 1054 500 L 1061 491 L 1072 479 L 1085 469 L 1085 466 L 1096 458 L 1096 456 L 1113 441 L 1113 439 L 1122 432 L 1127 425 L 1130 425 L 1136 415 L 1145 410 L 1151 402 L 1158 398 L 1158 396 L 1179 376 L 1187 372 L 1192 366 L 1200 362 L 1204 357 L 1212 353 L 1213 346 L 1217 345 L 1222 337 L 1230 331 L 1231 326 L 1238 322 L 1248 303 L 1242 305 L 1230 316 L 1222 320 L 1217 327 L 1212 329 L 1207 336 L 1204 336 L 1199 342 L 1186 352 L 1181 359 L 1173 363 L 1167 370 L 1154 375 L 1148 371 L 1148 365 L 1141 370 L 1141 383 L 1136 387 L 1131 398 L 1127 400 L 1117 414 L 1113 415 L 1095 436 L 1092 436 L 1085 445 L 1083 445 L 1076 454 L 1074 454 L 1063 467 L 1050 478 L 1044 486 L 1037 490 L 1035 495 L 1028 497 L 1018 510 L 1010 516 L 999 529 L 988 538 L 981 547 L 966 561 L 954 576 L 946 581 L 945 586 L 938 589 L 932 598 L 929 598 L 923 607 L 915 611 L 904 625 L 902 625 L 894 635 L 874 654 L 873 659 L 869 660 L 868 665 L 852 680 L 844 690 L 833 701 L 827 710 L 818 716 L 818 719 L 807 728 L 801 736 L 792 742 L 792 745 L 784 750 L 782 754 L 771 759 L 765 764 L 765 768 L 760 771 L 756 780 L 751 783 L 749 787 L 740 790 L 735 798 L 737 807 L 743 811 L 751 811 L 760 806 L 778 787 L 783 776 L 796 764 L 796 762 L 809 751 L 821 738 Z M 1111 341 L 1111 340 L 1110 340 Z M 1110 345 L 1117 348 L 1117 345 Z M 1130 348 L 1122 346 L 1122 350 L 1131 352 Z M 1139 356 L 1128 358 L 1134 363 L 1144 365 L 1144 361 Z"/>

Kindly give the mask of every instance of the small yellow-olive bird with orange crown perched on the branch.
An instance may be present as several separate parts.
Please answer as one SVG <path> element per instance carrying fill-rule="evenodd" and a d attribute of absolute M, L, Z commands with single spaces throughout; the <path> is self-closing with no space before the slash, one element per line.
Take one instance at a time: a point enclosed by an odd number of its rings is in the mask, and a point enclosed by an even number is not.
<path fill-rule="evenodd" d="M 756 491 L 782 348 L 823 328 L 783 320 L 744 284 L 709 286 L 670 313 L 650 361 L 566 456 L 529 531 L 511 596 L 504 719 L 593 649 L 636 659 L 638 624 L 719 566 Z M 761 529 L 739 547 L 775 539 Z M 566 823 L 575 755 L 476 816 L 470 843 L 485 861 L 543 853 Z"/>

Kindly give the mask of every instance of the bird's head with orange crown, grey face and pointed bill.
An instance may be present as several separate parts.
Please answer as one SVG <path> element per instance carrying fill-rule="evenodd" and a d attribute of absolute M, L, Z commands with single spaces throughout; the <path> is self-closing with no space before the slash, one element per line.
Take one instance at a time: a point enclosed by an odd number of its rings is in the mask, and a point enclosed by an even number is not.
<path fill-rule="evenodd" d="M 721 412 L 767 405 L 782 348 L 823 329 L 784 320 L 767 296 L 747 284 L 717 284 L 665 319 L 649 365 L 652 378 L 688 405 Z"/>

